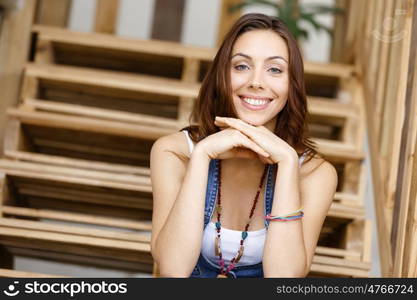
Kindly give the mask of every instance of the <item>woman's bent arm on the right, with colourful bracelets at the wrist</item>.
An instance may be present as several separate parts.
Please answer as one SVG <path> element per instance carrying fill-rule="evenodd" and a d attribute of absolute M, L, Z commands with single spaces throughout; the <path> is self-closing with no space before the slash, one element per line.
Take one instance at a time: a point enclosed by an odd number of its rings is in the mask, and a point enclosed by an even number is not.
<path fill-rule="evenodd" d="M 324 161 L 300 183 L 298 158 L 279 163 L 271 215 L 304 207 L 296 221 L 271 221 L 265 242 L 265 277 L 305 277 L 337 186 L 335 168 Z"/>

